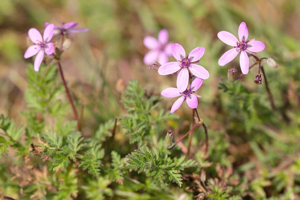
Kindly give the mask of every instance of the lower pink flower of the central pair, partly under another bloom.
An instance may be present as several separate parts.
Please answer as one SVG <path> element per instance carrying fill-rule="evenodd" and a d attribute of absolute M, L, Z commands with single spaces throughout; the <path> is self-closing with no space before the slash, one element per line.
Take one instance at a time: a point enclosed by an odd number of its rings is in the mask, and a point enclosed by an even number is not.
<path fill-rule="evenodd" d="M 190 84 L 190 88 L 186 89 L 185 91 L 181 92 L 178 88 L 167 88 L 164 89 L 161 92 L 161 95 L 164 97 L 179 97 L 180 95 L 183 95 L 179 99 L 175 101 L 171 108 L 171 112 L 175 112 L 183 103 L 184 100 L 187 101 L 187 105 L 190 106 L 190 108 L 197 108 L 198 106 L 198 97 L 201 97 L 199 94 L 194 93 L 194 91 L 198 90 L 200 86 L 202 85 L 203 79 L 196 78 L 193 80 L 193 82 Z"/>

